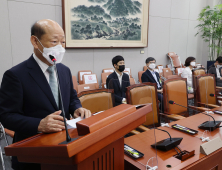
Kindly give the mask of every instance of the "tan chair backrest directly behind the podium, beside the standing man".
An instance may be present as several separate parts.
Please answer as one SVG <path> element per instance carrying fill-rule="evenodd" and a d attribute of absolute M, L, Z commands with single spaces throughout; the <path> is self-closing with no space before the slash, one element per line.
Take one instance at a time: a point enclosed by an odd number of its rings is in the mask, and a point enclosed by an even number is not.
<path fill-rule="evenodd" d="M 113 90 L 97 89 L 78 94 L 82 107 L 92 113 L 104 111 L 114 106 Z"/>

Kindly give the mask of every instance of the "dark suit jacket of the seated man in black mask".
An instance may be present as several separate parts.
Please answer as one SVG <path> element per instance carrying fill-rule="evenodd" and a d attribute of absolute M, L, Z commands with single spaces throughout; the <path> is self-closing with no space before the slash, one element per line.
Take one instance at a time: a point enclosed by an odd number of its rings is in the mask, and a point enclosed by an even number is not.
<path fill-rule="evenodd" d="M 123 73 L 121 87 L 115 71 L 107 77 L 106 87 L 107 89 L 114 89 L 115 106 L 122 104 L 123 98 L 126 98 L 126 87 L 128 86 L 130 86 L 130 81 L 126 73 Z"/>

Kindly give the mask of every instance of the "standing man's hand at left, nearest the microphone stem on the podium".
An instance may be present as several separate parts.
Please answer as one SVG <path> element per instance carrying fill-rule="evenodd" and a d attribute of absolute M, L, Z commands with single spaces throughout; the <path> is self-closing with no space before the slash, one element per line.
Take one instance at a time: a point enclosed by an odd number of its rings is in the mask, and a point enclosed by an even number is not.
<path fill-rule="evenodd" d="M 38 131 L 43 133 L 50 133 L 50 132 L 59 132 L 65 129 L 65 124 L 63 117 L 60 116 L 61 110 L 56 111 L 44 119 L 42 119 L 38 126 Z"/>

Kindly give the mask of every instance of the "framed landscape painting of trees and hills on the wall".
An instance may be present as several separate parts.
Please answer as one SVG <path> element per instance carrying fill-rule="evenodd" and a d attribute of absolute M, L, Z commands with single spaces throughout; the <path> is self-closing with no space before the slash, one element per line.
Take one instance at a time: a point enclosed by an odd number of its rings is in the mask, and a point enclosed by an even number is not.
<path fill-rule="evenodd" d="M 147 47 L 149 0 L 63 0 L 66 48 Z"/>

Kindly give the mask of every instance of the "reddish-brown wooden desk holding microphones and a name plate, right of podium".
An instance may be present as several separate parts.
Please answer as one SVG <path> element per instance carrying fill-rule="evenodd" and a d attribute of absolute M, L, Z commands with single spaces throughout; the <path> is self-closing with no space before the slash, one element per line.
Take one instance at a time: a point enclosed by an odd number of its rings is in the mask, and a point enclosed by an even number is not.
<path fill-rule="evenodd" d="M 214 110 L 221 110 L 222 107 L 214 109 Z M 222 116 L 217 114 L 211 114 L 215 120 L 221 120 Z M 213 152 L 212 154 L 206 156 L 200 153 L 200 145 L 203 143 L 199 137 L 202 136 L 204 130 L 198 129 L 198 126 L 203 123 L 204 121 L 209 121 L 209 117 L 204 114 L 196 114 L 194 116 L 171 122 L 169 125 L 173 125 L 175 123 L 189 127 L 194 130 L 198 130 L 199 133 L 197 135 L 189 135 L 175 129 L 169 127 L 159 127 L 160 129 L 167 130 L 172 138 L 173 137 L 183 137 L 183 140 L 179 147 L 181 150 L 192 151 L 195 150 L 195 155 L 185 161 L 180 161 L 173 157 L 176 154 L 175 150 L 169 151 L 159 151 L 157 150 L 157 158 L 158 158 L 158 170 L 222 170 L 222 148 L 218 149 L 217 151 Z M 212 121 L 212 118 L 210 118 Z M 165 138 L 169 138 L 167 133 L 162 131 L 155 130 L 156 134 L 156 141 L 163 140 Z M 216 129 L 213 132 L 210 132 L 211 139 L 215 137 L 220 137 L 222 139 L 222 128 Z M 144 157 L 133 160 L 127 155 L 124 155 L 125 159 L 125 169 L 127 170 L 145 170 L 145 166 L 147 161 L 151 157 L 156 156 L 156 150 L 153 149 L 150 145 L 155 143 L 154 137 L 154 129 L 150 131 L 143 132 L 138 135 L 134 135 L 128 138 L 125 138 L 125 144 L 135 148 L 136 150 L 144 153 Z M 134 166 L 133 166 L 134 165 Z M 166 165 L 171 165 L 172 168 L 167 168 Z M 137 168 L 136 168 L 137 167 Z"/>

